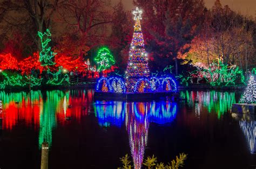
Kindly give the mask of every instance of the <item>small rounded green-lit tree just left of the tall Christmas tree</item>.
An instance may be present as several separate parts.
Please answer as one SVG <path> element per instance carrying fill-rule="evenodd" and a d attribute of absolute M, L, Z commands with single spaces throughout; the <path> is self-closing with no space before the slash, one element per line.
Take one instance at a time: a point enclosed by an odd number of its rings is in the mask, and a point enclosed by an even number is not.
<path fill-rule="evenodd" d="M 109 69 L 114 63 L 116 63 L 109 48 L 106 47 L 102 47 L 98 50 L 95 61 L 99 64 L 98 71 Z"/>

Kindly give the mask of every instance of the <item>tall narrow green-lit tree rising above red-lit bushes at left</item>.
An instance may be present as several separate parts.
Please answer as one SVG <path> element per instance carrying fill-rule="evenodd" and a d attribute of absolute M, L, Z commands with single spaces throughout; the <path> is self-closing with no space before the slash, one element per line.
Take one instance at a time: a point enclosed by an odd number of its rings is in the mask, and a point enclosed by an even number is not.
<path fill-rule="evenodd" d="M 37 32 L 37 35 L 41 39 L 42 51 L 40 52 L 40 62 L 42 66 L 54 65 L 54 57 L 56 53 L 52 52 L 49 43 L 51 42 L 51 32 L 49 29 L 46 29 L 44 33 Z"/>

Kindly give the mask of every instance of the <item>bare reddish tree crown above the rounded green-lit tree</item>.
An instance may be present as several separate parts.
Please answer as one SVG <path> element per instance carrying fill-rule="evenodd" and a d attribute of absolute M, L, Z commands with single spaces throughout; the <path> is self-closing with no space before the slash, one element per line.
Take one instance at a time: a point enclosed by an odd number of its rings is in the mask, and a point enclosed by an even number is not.
<path fill-rule="evenodd" d="M 106 24 L 112 22 L 109 1 L 85 0 L 63 1 L 58 6 L 58 22 L 63 23 L 69 33 L 76 33 L 88 46 L 102 42 L 106 36 Z"/>

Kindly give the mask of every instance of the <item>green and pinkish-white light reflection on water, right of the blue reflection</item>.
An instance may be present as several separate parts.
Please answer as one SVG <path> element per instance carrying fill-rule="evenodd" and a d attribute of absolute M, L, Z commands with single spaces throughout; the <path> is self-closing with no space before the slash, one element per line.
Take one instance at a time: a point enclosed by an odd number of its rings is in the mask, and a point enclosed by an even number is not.
<path fill-rule="evenodd" d="M 209 113 L 214 110 L 220 118 L 235 103 L 235 92 L 180 91 L 180 96 L 189 106 L 194 107 L 198 118 L 203 107 L 206 107 Z"/>

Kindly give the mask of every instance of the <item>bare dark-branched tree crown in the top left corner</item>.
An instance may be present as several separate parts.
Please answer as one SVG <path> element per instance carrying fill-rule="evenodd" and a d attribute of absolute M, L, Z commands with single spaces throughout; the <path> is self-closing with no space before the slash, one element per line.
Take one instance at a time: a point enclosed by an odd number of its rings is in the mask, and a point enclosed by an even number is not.
<path fill-rule="evenodd" d="M 0 4 L 1 28 L 5 30 L 5 34 L 13 29 L 23 31 L 35 39 L 37 49 L 41 50 L 37 32 L 43 32 L 50 27 L 58 2 L 58 0 L 4 0 Z"/>

